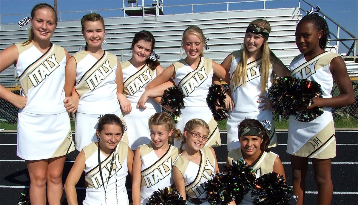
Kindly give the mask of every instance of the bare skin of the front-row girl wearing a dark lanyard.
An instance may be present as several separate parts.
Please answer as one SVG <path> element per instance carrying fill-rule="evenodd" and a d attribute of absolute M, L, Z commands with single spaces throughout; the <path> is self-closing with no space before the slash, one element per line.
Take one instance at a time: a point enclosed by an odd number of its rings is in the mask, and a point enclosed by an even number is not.
<path fill-rule="evenodd" d="M 103 137 L 103 139 L 104 139 L 104 137 L 107 137 L 108 141 L 116 142 L 116 144 L 113 145 L 115 147 L 118 144 L 118 142 L 121 140 L 121 137 L 122 137 L 121 129 L 122 128 L 116 124 L 106 124 L 103 127 L 105 127 L 107 125 L 111 125 L 111 129 L 110 130 L 103 129 L 102 131 L 98 131 L 98 129 L 97 129 L 96 130 L 97 137 L 101 136 L 101 137 Z M 111 149 L 113 146 L 109 147 L 108 145 L 105 144 L 106 143 L 105 141 L 107 141 L 107 140 L 104 140 L 104 141 L 100 140 L 99 142 L 96 142 L 97 146 L 98 146 L 98 143 L 100 143 L 100 151 L 105 156 L 110 155 L 113 150 L 113 149 Z M 64 184 L 64 190 L 66 192 L 66 199 L 67 199 L 68 204 L 71 204 L 71 205 L 78 204 L 76 184 L 79 181 L 79 179 L 81 178 L 83 170 L 86 167 L 85 161 L 86 161 L 86 156 L 84 154 L 84 151 L 82 150 L 77 155 L 76 160 L 74 161 L 74 164 L 73 164 L 70 172 L 68 173 L 66 182 Z M 128 172 L 131 176 L 132 176 L 132 164 L 133 164 L 133 151 L 128 147 L 127 166 L 128 166 Z"/>

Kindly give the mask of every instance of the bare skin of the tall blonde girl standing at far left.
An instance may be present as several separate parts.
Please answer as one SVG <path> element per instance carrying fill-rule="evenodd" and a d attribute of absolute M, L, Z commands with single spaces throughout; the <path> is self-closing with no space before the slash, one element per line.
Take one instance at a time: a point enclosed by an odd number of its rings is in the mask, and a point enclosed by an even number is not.
<path fill-rule="evenodd" d="M 52 10 L 37 9 L 30 21 L 34 39 L 33 44 L 41 53 L 45 53 L 50 47 L 50 38 L 56 29 L 57 22 Z M 66 59 L 69 54 L 65 50 Z M 16 65 L 19 52 L 15 45 L 1 51 L 0 72 L 12 64 Z M 0 85 L 0 97 L 9 101 L 15 107 L 23 109 L 27 103 L 27 97 L 16 95 Z M 26 160 L 30 176 L 30 202 L 31 204 L 46 204 L 46 186 L 49 204 L 60 204 L 62 197 L 62 172 L 66 156 L 51 159 Z"/>

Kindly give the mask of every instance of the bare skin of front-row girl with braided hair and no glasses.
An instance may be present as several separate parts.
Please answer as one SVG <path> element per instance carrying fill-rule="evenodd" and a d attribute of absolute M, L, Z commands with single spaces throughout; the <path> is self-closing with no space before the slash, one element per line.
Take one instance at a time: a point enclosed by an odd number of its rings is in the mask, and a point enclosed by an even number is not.
<path fill-rule="evenodd" d="M 169 137 L 173 134 L 174 130 L 166 130 L 165 125 L 152 125 L 150 126 L 150 132 L 151 132 L 151 143 L 153 150 L 155 154 L 160 159 L 164 156 L 164 154 L 169 149 Z M 163 139 L 165 137 L 165 140 L 162 140 L 159 147 L 154 145 L 153 141 L 158 140 L 158 136 Z M 132 199 L 134 205 L 140 204 L 140 187 L 141 187 L 141 167 L 142 167 L 142 159 L 140 157 L 140 147 L 137 148 L 137 150 L 134 153 L 134 160 L 133 160 L 133 180 L 132 180 Z"/>

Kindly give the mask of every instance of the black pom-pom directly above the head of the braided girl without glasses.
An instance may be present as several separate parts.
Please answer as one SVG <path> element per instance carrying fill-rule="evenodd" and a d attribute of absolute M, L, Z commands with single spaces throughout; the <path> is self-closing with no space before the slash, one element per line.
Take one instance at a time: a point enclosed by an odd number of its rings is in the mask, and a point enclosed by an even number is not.
<path fill-rule="evenodd" d="M 184 93 L 176 86 L 168 87 L 163 96 L 161 97 L 160 103 L 162 106 L 169 106 L 174 109 L 171 115 L 175 122 L 178 122 L 178 117 L 181 114 L 181 108 L 184 106 Z"/>

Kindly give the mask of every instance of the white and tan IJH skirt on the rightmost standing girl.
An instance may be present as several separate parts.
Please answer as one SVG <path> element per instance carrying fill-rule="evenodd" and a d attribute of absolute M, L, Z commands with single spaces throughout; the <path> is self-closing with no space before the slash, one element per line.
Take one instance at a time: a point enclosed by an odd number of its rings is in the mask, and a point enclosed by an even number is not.
<path fill-rule="evenodd" d="M 310 122 L 289 119 L 287 153 L 294 156 L 331 159 L 335 157 L 335 130 L 331 108 Z"/>

